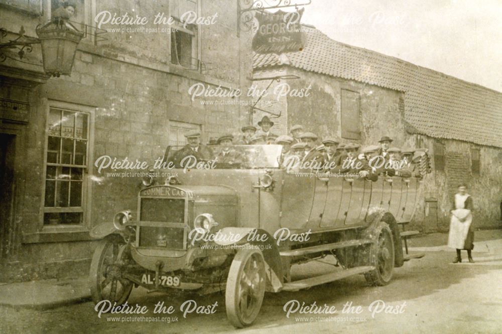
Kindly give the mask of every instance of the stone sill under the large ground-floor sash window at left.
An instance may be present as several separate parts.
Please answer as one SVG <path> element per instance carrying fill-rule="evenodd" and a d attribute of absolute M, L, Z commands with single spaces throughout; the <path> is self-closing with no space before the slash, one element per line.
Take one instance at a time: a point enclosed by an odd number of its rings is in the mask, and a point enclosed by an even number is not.
<path fill-rule="evenodd" d="M 58 231 L 62 230 L 62 231 Z M 24 233 L 23 244 L 37 244 L 37 243 L 63 243 L 72 241 L 88 241 L 96 240 L 91 238 L 89 230 L 82 227 L 74 228 L 50 228 L 36 232 Z"/>

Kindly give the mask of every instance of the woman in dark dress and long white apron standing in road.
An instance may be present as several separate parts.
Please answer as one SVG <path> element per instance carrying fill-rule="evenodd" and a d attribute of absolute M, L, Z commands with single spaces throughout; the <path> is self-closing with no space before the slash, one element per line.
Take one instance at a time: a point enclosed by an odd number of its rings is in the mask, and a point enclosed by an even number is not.
<path fill-rule="evenodd" d="M 448 235 L 448 247 L 457 250 L 457 257 L 453 263 L 462 262 L 461 250 L 467 251 L 470 263 L 472 260 L 471 251 L 474 248 L 474 231 L 472 229 L 472 197 L 467 193 L 465 184 L 458 186 L 458 192 L 453 197 L 453 207 L 451 210 L 450 234 Z"/>

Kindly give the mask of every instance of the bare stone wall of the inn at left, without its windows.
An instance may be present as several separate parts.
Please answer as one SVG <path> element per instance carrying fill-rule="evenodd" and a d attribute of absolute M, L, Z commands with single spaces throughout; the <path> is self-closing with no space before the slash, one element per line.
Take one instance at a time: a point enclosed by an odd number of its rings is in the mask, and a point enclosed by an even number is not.
<path fill-rule="evenodd" d="M 138 14 L 153 19 L 157 12 L 163 11 L 162 3 L 125 1 L 116 8 L 117 2 L 106 0 L 99 2 L 96 10 L 131 14 L 135 9 Z M 227 132 L 237 133 L 246 123 L 248 108 L 240 105 L 238 98 L 192 100 L 188 94 L 190 86 L 196 83 L 213 89 L 244 91 L 250 84 L 250 35 L 243 32 L 237 36 L 236 3 L 220 8 L 203 2 L 201 8 L 204 15 L 218 12 L 215 25 L 199 29 L 201 59 L 212 63 L 208 71 L 197 72 L 170 64 L 168 35 L 136 34 L 129 38 L 127 34 L 108 33 L 106 42 L 94 45 L 91 39 L 85 39 L 79 44 L 71 76 L 50 78 L 45 84 L 30 86 L 23 96 L 30 101 L 29 122 L 16 125 L 22 134 L 16 166 L 20 177 L 17 186 L 22 189 L 16 210 L 19 233 L 16 233 L 13 252 L 2 259 L 0 280 L 82 274 L 88 270 L 95 248 L 88 230 L 111 220 L 119 210 L 129 208 L 136 214 L 141 179 L 111 177 L 106 175 L 109 169 L 98 173 L 93 168 L 85 175 L 91 196 L 87 205 L 90 214 L 83 226 L 69 229 L 72 232 L 65 229 L 57 233 L 43 227 L 46 124 L 52 101 L 72 103 L 77 109 L 79 105 L 93 109 L 94 122 L 90 126 L 94 132 L 91 146 L 94 159 L 109 155 L 152 165 L 154 159 L 163 156 L 169 144 L 170 121 L 200 125 L 203 142 Z M 8 8 L 2 8 L 0 18 L 9 18 L 9 13 Z M 17 12 L 12 15 L 17 20 L 5 20 L 8 30 L 16 31 L 24 25 L 28 35 L 34 36 L 31 28 L 42 18 L 34 19 Z M 38 46 L 26 60 L 40 63 Z M 5 65 L 42 70 L 40 66 L 19 62 L 7 61 Z"/>

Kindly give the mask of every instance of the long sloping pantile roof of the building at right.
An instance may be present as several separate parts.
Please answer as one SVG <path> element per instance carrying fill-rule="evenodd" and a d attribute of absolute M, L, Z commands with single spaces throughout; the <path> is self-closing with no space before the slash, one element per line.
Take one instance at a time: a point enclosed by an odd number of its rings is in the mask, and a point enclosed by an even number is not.
<path fill-rule="evenodd" d="M 405 119 L 418 133 L 502 147 L 502 93 L 307 28 L 303 51 L 286 54 L 289 66 L 404 91 Z M 281 65 L 284 56 L 253 58 L 255 70 Z"/>

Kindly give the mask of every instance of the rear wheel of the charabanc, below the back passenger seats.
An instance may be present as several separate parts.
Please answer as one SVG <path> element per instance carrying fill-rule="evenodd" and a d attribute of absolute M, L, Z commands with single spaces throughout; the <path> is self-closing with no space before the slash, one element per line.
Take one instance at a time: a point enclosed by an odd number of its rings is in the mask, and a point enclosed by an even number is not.
<path fill-rule="evenodd" d="M 369 265 L 374 270 L 364 274 L 366 281 L 375 286 L 387 285 L 392 279 L 394 271 L 394 240 L 389 225 L 381 221 L 375 227 L 377 239 L 370 247 Z"/>

